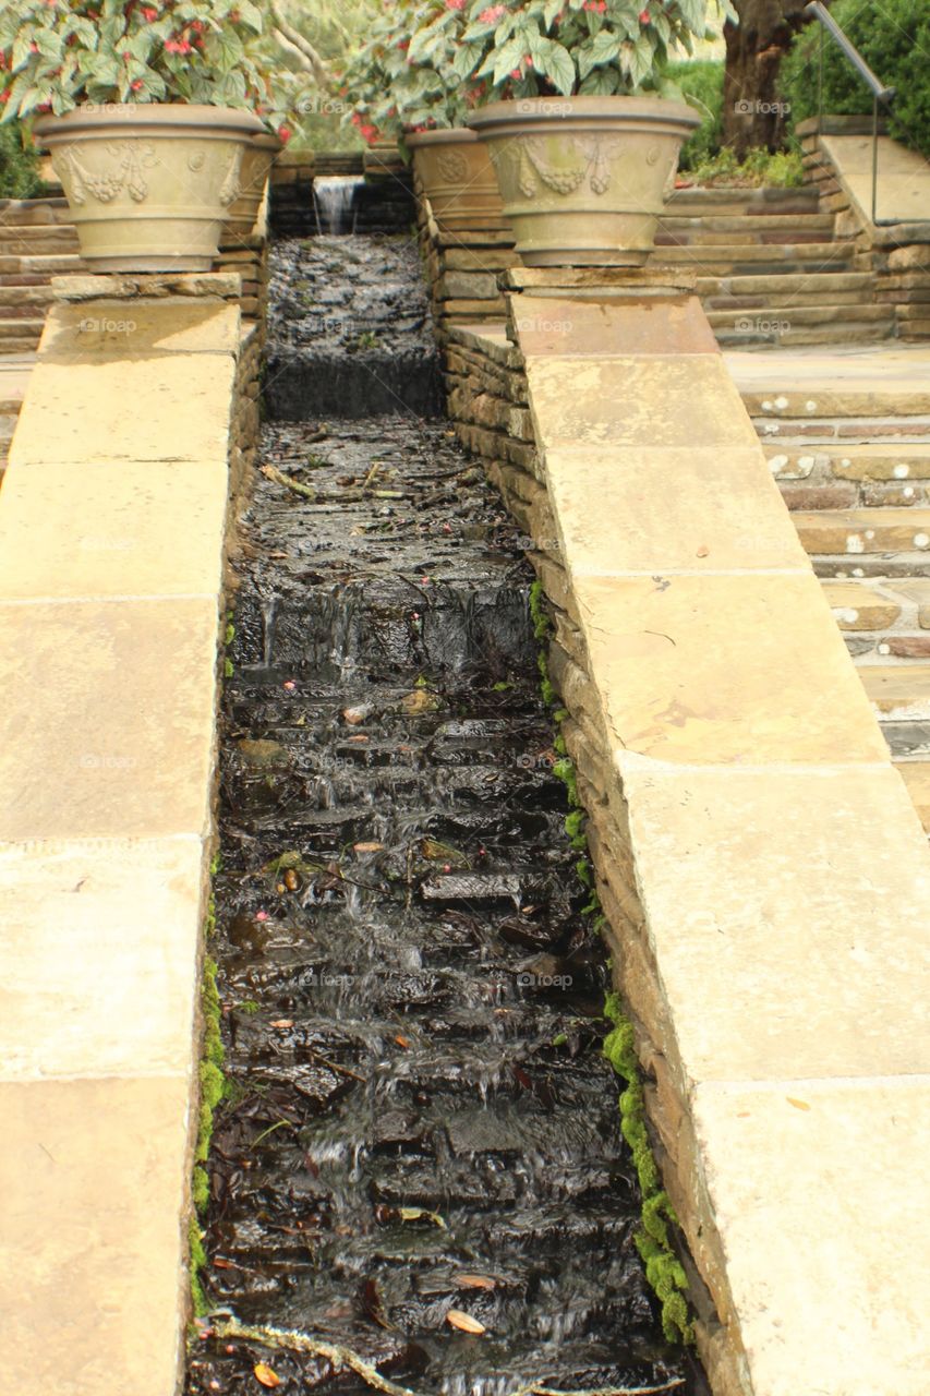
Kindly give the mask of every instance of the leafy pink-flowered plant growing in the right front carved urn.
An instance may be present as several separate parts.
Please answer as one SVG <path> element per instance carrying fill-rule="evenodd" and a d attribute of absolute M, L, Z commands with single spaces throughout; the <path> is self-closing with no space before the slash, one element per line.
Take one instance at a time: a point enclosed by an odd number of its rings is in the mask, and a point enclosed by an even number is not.
<path fill-rule="evenodd" d="M 693 52 L 715 0 L 468 0 L 454 61 L 482 102 L 533 96 L 680 96 L 663 71 L 669 49 Z M 730 0 L 723 14 L 736 22 Z"/>

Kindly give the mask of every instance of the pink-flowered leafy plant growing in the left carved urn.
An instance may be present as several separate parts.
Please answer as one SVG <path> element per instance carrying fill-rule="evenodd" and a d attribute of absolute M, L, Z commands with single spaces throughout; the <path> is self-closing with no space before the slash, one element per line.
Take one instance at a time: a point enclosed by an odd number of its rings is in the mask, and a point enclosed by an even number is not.
<path fill-rule="evenodd" d="M 0 7 L 3 121 L 78 105 L 201 102 L 290 134 L 297 77 L 254 0 L 17 0 Z"/>

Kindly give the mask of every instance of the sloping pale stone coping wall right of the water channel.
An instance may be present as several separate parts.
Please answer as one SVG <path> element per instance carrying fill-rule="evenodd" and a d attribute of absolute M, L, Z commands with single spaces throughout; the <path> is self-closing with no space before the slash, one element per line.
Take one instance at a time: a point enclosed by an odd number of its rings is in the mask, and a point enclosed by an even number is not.
<path fill-rule="evenodd" d="M 923 1396 L 930 853 L 700 304 L 600 278 L 503 276 L 448 401 L 549 599 L 700 1351 Z"/>

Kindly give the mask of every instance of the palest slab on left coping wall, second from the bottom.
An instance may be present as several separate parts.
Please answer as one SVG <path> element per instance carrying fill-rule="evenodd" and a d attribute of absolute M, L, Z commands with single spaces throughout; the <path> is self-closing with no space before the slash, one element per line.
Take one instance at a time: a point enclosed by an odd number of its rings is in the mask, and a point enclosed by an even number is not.
<path fill-rule="evenodd" d="M 0 1081 L 189 1076 L 204 849 L 0 846 Z"/>

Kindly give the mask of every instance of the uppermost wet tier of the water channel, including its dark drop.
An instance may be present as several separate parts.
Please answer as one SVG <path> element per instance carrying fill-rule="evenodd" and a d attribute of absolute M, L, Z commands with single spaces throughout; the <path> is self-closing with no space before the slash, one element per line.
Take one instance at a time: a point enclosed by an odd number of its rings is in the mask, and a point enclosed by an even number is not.
<path fill-rule="evenodd" d="M 441 412 L 440 366 L 411 233 L 271 247 L 265 401 L 274 417 Z"/>

